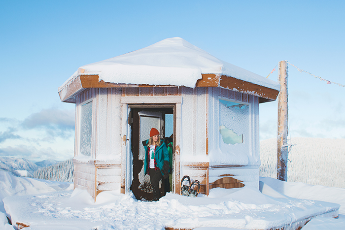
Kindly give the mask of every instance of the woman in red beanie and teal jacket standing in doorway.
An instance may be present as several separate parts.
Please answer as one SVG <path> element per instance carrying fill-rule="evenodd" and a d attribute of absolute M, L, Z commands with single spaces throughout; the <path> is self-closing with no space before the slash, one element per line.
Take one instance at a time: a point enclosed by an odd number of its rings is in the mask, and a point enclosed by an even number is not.
<path fill-rule="evenodd" d="M 169 175 L 168 149 L 159 137 L 159 131 L 155 128 L 150 131 L 150 139 L 143 141 L 142 144 L 146 152 L 144 161 L 145 175 L 150 175 L 153 200 L 157 201 L 161 198 L 159 181 L 163 178 L 163 175 Z"/>

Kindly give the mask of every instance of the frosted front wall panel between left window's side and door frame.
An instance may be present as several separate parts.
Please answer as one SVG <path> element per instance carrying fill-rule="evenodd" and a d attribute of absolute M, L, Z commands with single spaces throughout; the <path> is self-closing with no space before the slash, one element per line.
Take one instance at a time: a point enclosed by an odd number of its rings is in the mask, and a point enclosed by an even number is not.
<path fill-rule="evenodd" d="M 97 89 L 96 196 L 121 187 L 121 88 Z M 127 118 L 125 118 L 127 119 Z"/>

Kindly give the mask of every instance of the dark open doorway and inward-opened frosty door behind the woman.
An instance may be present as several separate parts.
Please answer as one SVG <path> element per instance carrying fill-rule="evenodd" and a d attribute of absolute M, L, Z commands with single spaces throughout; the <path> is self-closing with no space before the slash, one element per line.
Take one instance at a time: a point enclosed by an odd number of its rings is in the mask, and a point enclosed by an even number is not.
<path fill-rule="evenodd" d="M 151 200 L 152 186 L 150 176 L 145 175 L 144 160 L 145 149 L 142 141 L 149 139 L 151 128 L 160 132 L 161 139 L 165 135 L 165 116 L 166 113 L 172 113 L 173 108 L 131 108 L 131 127 L 132 127 L 132 154 L 133 154 L 133 181 L 131 190 L 134 196 L 140 200 L 142 198 Z M 160 184 L 161 194 L 164 193 L 164 180 Z"/>

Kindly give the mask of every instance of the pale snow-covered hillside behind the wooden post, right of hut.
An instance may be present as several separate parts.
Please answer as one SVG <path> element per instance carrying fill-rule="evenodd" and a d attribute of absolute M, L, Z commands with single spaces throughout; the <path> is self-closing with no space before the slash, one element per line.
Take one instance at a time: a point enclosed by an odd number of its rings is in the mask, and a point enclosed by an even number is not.
<path fill-rule="evenodd" d="M 287 181 L 345 188 L 345 139 L 293 137 Z M 276 139 L 260 142 L 260 176 L 276 178 Z"/>

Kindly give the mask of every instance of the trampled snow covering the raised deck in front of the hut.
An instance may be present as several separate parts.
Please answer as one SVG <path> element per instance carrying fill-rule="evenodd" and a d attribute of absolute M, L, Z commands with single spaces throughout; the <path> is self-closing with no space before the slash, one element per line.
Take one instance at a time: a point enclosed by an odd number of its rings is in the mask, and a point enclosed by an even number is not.
<path fill-rule="evenodd" d="M 229 227 L 271 229 L 299 222 L 339 207 L 321 201 L 267 197 L 258 190 L 213 189 L 208 197 L 168 194 L 158 202 L 138 201 L 131 194 L 101 193 L 94 203 L 84 190 L 4 199 L 12 220 L 32 230 L 147 229 Z M 31 210 L 30 213 L 27 210 Z M 330 215 L 326 215 L 330 216 Z M 91 228 L 92 227 L 92 228 Z"/>

